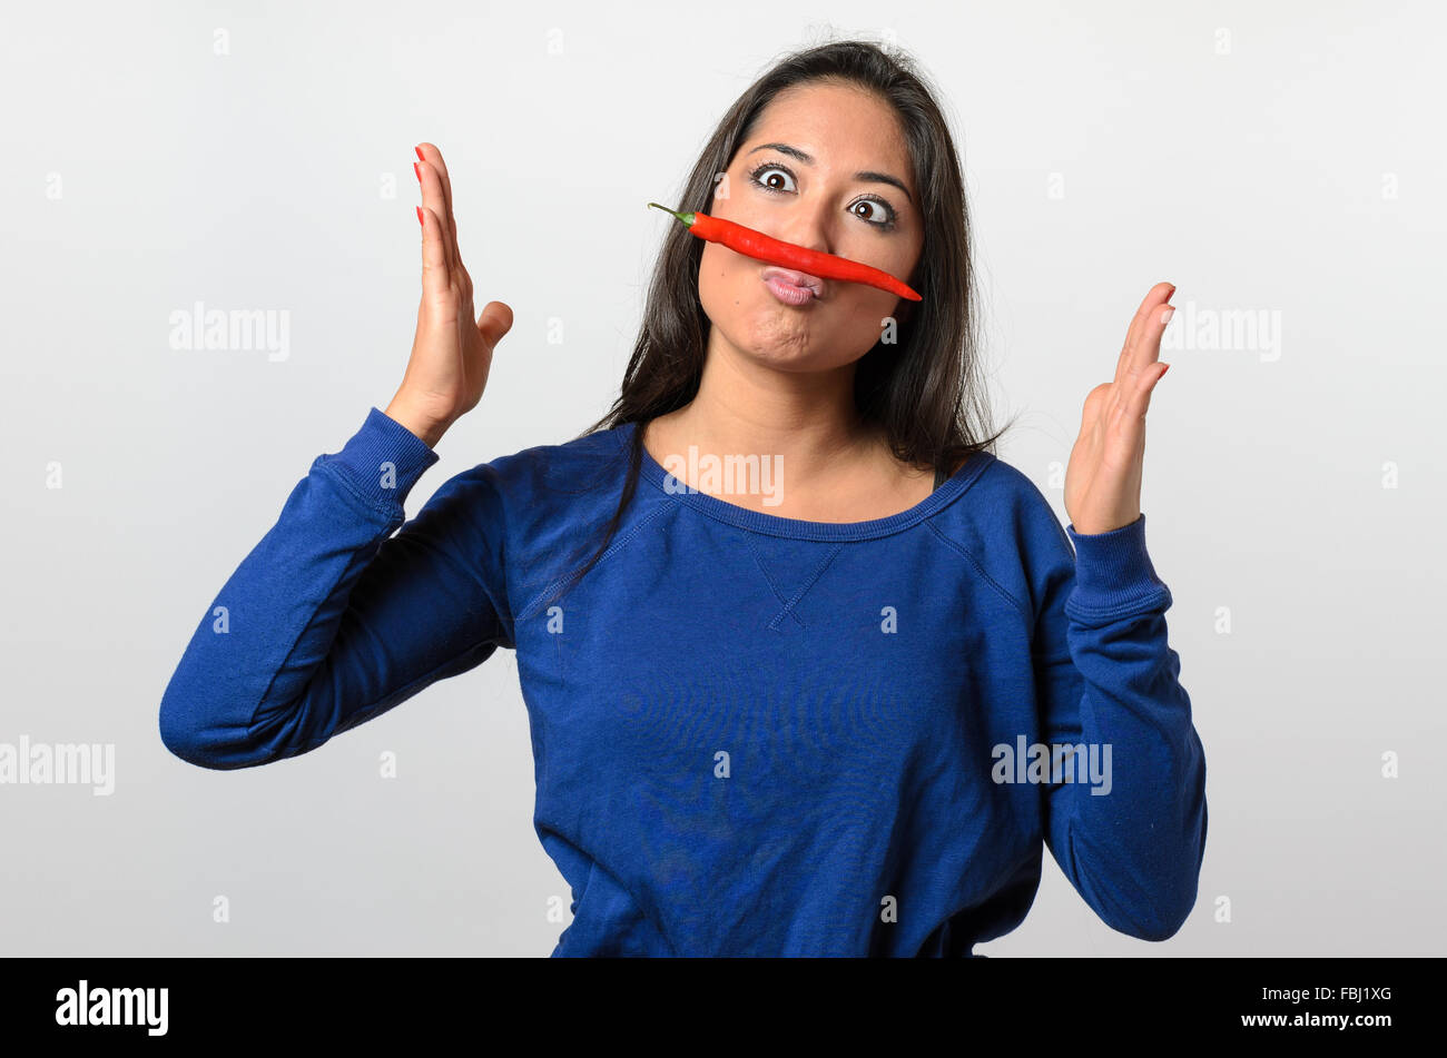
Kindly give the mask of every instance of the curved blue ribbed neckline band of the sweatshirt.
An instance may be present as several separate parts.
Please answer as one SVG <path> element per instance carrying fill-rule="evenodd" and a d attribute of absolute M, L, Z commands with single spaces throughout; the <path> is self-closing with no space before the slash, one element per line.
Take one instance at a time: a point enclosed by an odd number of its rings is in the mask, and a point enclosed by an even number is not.
<path fill-rule="evenodd" d="M 625 423 L 624 428 L 618 431 L 619 447 L 627 451 L 637 432 L 637 421 Z M 954 476 L 941 483 L 939 489 L 932 491 L 913 507 L 901 510 L 896 515 L 875 517 L 867 522 L 807 522 L 805 519 L 780 517 L 778 515 L 750 510 L 748 507 L 741 507 L 737 503 L 721 500 L 716 496 L 695 491 L 669 473 L 655 458 L 653 458 L 648 450 L 642 447 L 641 441 L 638 447 L 642 455 L 640 473 L 670 499 L 682 500 L 712 519 L 726 522 L 728 525 L 734 525 L 741 529 L 750 529 L 767 536 L 786 536 L 802 541 L 867 541 L 878 536 L 888 536 L 890 533 L 897 533 L 901 529 L 909 529 L 958 499 L 959 494 L 964 493 L 965 489 L 968 489 L 969 484 L 980 477 L 980 473 L 996 458 L 990 452 L 974 452 L 968 460 L 965 460 L 965 464 L 954 473 Z"/>

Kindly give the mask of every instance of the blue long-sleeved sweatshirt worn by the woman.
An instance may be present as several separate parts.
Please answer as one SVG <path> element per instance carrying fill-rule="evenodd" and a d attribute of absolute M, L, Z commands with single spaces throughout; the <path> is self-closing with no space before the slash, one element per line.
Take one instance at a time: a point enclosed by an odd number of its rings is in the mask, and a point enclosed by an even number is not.
<path fill-rule="evenodd" d="M 479 464 L 407 520 L 437 454 L 372 408 L 203 614 L 165 746 L 307 753 L 501 646 L 572 886 L 554 955 L 971 955 L 1045 846 L 1111 928 L 1179 929 L 1205 760 L 1145 516 L 1078 535 L 980 452 L 906 512 L 806 522 L 644 451 L 570 577 L 635 429 Z"/>

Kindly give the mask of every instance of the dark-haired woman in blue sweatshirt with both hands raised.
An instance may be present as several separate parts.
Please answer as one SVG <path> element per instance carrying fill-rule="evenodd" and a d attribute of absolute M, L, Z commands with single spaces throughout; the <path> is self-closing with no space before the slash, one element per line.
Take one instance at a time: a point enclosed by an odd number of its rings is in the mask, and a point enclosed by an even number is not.
<path fill-rule="evenodd" d="M 1108 925 L 1174 935 L 1205 763 L 1139 506 L 1172 288 L 1085 399 L 1062 529 L 977 425 L 969 225 L 935 97 L 873 45 L 807 49 L 734 104 L 679 208 L 922 301 L 670 221 L 611 413 L 451 477 L 405 522 L 512 325 L 501 302 L 473 322 L 447 168 L 418 156 L 402 383 L 197 627 L 161 704 L 171 752 L 305 753 L 502 646 L 534 825 L 573 890 L 554 955 L 968 955 L 1024 918 L 1045 846 Z M 776 474 L 716 481 L 734 457 Z"/>

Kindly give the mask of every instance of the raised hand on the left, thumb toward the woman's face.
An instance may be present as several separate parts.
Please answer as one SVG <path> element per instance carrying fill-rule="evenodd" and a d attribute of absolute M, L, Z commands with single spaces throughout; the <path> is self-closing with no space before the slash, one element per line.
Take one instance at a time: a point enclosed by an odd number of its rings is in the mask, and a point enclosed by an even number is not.
<path fill-rule="evenodd" d="M 457 251 L 451 182 L 441 152 L 417 147 L 423 185 L 423 299 L 402 384 L 386 415 L 436 447 L 447 428 L 478 406 L 488 384 L 492 350 L 512 330 L 512 309 L 489 301 L 473 322 L 472 276 Z"/>

